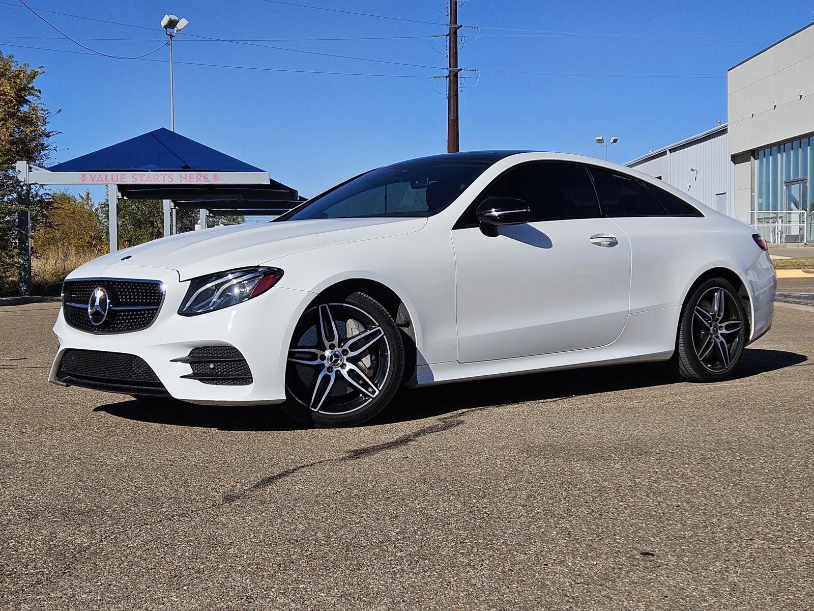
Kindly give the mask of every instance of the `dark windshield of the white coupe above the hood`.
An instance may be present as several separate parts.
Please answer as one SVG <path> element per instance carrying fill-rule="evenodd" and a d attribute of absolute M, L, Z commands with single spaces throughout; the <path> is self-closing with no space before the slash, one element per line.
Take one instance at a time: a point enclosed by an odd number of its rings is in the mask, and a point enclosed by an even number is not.
<path fill-rule="evenodd" d="M 489 165 L 487 161 L 389 165 L 352 178 L 277 220 L 430 217 L 452 204 Z"/>

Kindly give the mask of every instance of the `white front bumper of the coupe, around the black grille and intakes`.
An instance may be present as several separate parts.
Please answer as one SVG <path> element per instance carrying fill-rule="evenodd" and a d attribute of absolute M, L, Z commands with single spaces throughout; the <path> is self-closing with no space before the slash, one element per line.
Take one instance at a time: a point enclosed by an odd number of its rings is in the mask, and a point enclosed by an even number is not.
<path fill-rule="evenodd" d="M 132 274 L 132 270 L 130 272 Z M 109 268 L 102 275 L 118 277 Z M 84 276 L 94 277 L 92 270 Z M 60 310 L 54 325 L 59 351 L 50 370 L 50 382 L 62 385 L 57 372 L 66 350 L 85 349 L 142 358 L 155 371 L 169 395 L 182 401 L 203 405 L 256 405 L 285 400 L 288 345 L 296 322 L 314 297 L 312 292 L 274 287 L 236 306 L 198 316 L 181 316 L 177 310 L 190 284 L 188 281 L 180 282 L 174 270 L 159 268 L 140 268 L 139 276 L 160 280 L 167 286 L 164 304 L 155 322 L 136 332 L 94 335 L 69 326 Z M 132 275 L 129 278 L 132 279 Z M 185 358 L 192 349 L 212 345 L 239 349 L 252 371 L 252 383 L 208 385 L 182 377 L 192 372 L 190 364 L 173 359 Z"/>

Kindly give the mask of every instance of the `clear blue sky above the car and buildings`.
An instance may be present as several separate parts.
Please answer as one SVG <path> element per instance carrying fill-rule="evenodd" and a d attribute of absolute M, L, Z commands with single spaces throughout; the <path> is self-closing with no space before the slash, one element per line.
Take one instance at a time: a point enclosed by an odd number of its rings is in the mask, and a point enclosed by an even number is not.
<path fill-rule="evenodd" d="M 403 77 L 444 74 L 444 39 L 432 38 L 444 33 L 435 25 L 446 20 L 444 0 L 291 0 L 430 23 L 268 0 L 26 2 L 34 9 L 142 26 L 41 13 L 83 45 L 120 56 L 160 46 L 164 12 L 186 17 L 190 26 L 175 44 L 176 130 L 268 169 L 306 196 L 365 169 L 446 150 L 446 100 L 434 90 L 443 89 L 444 81 Z M 463 30 L 460 64 L 479 68 L 481 78 L 476 85 L 467 79 L 461 95 L 461 148 L 603 156 L 593 138 L 618 135 L 610 158 L 624 162 L 709 129 L 726 120 L 726 70 L 810 23 L 812 8 L 807 0 L 467 0 L 459 20 L 481 28 Z M 251 39 L 255 46 L 200 37 Z M 278 40 L 330 37 L 398 38 Z M 150 56 L 162 61 L 83 55 L 87 51 L 59 37 L 16 0 L 2 0 L 0 50 L 46 68 L 38 84 L 49 108 L 61 109 L 52 122 L 62 132 L 55 162 L 168 126 L 166 49 Z"/>

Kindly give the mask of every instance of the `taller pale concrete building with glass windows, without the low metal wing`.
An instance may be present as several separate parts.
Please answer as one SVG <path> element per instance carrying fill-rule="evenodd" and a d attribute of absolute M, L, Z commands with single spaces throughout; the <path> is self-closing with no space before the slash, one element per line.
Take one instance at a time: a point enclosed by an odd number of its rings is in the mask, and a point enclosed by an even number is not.
<path fill-rule="evenodd" d="M 737 217 L 773 242 L 814 240 L 814 24 L 730 68 L 727 80 Z"/>

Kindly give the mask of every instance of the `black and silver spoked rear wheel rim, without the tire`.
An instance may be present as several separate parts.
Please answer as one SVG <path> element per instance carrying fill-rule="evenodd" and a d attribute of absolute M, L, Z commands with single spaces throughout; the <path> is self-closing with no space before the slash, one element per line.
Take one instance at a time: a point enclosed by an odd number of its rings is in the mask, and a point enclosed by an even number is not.
<path fill-rule="evenodd" d="M 736 299 L 727 289 L 712 287 L 693 306 L 693 348 L 710 371 L 728 370 L 741 349 L 743 321 Z"/>

